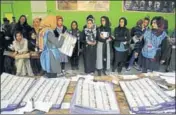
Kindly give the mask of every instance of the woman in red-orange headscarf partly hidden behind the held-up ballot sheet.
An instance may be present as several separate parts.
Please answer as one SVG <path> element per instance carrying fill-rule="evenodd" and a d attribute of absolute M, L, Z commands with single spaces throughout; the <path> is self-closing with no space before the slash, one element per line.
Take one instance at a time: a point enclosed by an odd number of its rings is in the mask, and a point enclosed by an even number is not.
<path fill-rule="evenodd" d="M 65 31 L 67 31 L 67 27 L 63 25 L 63 18 L 61 16 L 56 16 L 56 23 L 57 23 L 57 27 L 54 30 L 54 34 L 55 37 L 59 38 L 60 34 L 65 33 Z M 61 69 L 62 69 L 62 74 L 65 75 L 65 63 L 68 62 L 68 57 L 63 54 L 63 53 L 59 53 L 60 56 L 60 62 L 61 62 Z"/>

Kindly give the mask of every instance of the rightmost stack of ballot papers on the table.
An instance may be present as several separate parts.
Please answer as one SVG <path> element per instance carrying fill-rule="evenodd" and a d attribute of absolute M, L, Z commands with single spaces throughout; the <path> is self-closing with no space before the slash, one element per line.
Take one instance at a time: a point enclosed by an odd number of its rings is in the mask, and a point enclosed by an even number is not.
<path fill-rule="evenodd" d="M 149 78 L 119 81 L 132 113 L 175 113 L 175 100 Z"/>

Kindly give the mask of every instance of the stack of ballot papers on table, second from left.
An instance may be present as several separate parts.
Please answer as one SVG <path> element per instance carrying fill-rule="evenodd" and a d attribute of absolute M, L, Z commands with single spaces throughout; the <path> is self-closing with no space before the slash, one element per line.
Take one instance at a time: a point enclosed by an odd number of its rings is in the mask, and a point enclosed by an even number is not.
<path fill-rule="evenodd" d="M 33 108 L 48 112 L 49 109 L 60 109 L 70 80 L 66 78 L 44 78 L 37 80 L 23 99 L 31 101 Z"/>

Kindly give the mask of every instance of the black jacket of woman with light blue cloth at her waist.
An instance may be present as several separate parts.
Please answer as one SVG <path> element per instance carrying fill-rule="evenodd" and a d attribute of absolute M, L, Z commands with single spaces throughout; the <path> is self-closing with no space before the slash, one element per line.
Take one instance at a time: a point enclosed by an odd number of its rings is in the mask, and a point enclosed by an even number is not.
<path fill-rule="evenodd" d="M 121 42 L 127 42 L 127 44 L 124 45 L 125 49 L 128 49 L 130 47 L 130 33 L 129 30 L 126 27 L 116 27 L 114 30 L 114 46 L 120 47 Z"/>

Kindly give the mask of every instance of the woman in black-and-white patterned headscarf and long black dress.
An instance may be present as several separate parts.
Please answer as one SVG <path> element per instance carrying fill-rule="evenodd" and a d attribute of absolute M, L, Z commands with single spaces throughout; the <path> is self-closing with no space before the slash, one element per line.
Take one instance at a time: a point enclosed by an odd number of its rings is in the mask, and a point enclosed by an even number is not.
<path fill-rule="evenodd" d="M 82 32 L 84 70 L 86 74 L 95 72 L 96 66 L 96 25 L 93 18 L 87 19 L 87 26 Z"/>

